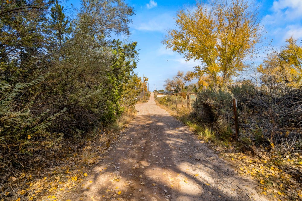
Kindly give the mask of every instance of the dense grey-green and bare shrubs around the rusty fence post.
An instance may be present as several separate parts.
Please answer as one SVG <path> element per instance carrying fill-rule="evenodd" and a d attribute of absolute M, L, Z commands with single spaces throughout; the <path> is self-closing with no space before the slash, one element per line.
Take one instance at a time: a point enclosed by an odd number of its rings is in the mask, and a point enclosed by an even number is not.
<path fill-rule="evenodd" d="M 233 102 L 237 99 L 239 123 L 250 127 L 249 134 L 256 145 L 280 145 L 284 150 L 301 150 L 302 88 L 288 89 L 282 96 L 270 96 L 256 89 L 250 81 L 230 86 L 227 90 L 202 90 L 194 103 L 192 117 L 200 123 L 214 125 L 217 135 L 231 136 L 234 124 Z M 246 125 L 246 118 L 251 125 Z M 242 136 L 245 137 L 245 136 Z"/>

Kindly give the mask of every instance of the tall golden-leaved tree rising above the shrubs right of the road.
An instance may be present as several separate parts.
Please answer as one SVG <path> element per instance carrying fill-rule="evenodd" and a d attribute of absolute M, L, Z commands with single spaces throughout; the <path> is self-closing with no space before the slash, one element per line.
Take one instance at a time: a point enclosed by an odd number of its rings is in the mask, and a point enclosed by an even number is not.
<path fill-rule="evenodd" d="M 198 3 L 193 11 L 179 11 L 175 21 L 177 28 L 162 42 L 187 61 L 201 61 L 196 74 L 209 76 L 214 86 L 225 86 L 243 70 L 244 57 L 260 39 L 257 8 L 246 0 Z"/>

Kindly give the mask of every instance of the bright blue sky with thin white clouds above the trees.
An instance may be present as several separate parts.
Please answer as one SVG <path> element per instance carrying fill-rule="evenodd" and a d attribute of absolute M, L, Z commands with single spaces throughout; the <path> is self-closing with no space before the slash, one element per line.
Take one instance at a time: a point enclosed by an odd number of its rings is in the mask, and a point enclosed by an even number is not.
<path fill-rule="evenodd" d="M 75 7 L 79 6 L 79 0 L 71 0 Z M 69 2 L 64 4 L 68 7 Z M 194 8 L 195 0 L 125 0 L 127 4 L 136 10 L 132 16 L 133 24 L 130 25 L 131 36 L 128 41 L 137 41 L 139 49 L 139 62 L 135 72 L 149 78 L 150 91 L 164 89 L 164 80 L 172 78 L 177 71 L 192 71 L 194 65 L 199 62 L 186 62 L 182 55 L 165 49 L 161 41 L 167 30 L 174 29 L 173 17 L 177 11 L 186 8 Z M 206 0 L 202 2 L 207 3 Z M 265 48 L 259 52 L 258 61 L 265 58 L 265 53 L 271 48 L 280 49 L 284 46 L 285 39 L 294 36 L 302 39 L 302 0 L 263 0 L 256 1 L 259 4 L 259 19 L 265 29 L 262 44 Z M 121 40 L 124 36 L 114 36 Z M 240 77 L 246 77 L 246 74 Z"/>

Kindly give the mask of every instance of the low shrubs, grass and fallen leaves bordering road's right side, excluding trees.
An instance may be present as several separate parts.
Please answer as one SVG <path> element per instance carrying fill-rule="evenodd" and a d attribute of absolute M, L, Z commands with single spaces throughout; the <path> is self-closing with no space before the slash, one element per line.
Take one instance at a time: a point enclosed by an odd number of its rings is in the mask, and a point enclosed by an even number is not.
<path fill-rule="evenodd" d="M 260 193 L 280 200 L 301 199 L 302 89 L 275 97 L 244 81 L 226 90 L 200 90 L 189 109 L 182 108 L 181 98 L 164 96 L 156 101 L 229 159 L 238 174 L 257 180 Z M 233 98 L 239 105 L 238 139 Z"/>

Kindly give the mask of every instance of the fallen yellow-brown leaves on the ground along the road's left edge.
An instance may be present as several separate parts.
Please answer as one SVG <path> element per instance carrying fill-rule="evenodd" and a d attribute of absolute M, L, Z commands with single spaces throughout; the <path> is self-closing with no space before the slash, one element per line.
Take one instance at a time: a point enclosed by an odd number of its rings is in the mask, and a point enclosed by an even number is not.
<path fill-rule="evenodd" d="M 66 153 L 67 157 L 51 162 L 54 165 L 44 169 L 43 174 L 38 175 L 37 172 L 32 171 L 22 173 L 18 177 L 10 177 L 11 185 L 17 185 L 20 189 L 17 193 L 19 197 L 15 195 L 13 196 L 15 198 L 12 197 L 11 200 L 58 201 L 60 200 L 57 196 L 59 192 L 70 192 L 79 185 L 84 187 L 85 177 L 89 176 L 89 172 L 86 172 L 87 167 L 100 163 L 102 155 L 111 149 L 108 142 L 116 141 L 118 136 L 119 133 L 98 129 L 97 135 L 87 139 L 80 152 L 71 152 L 70 148 L 69 153 Z M 120 178 L 117 177 L 114 180 L 119 181 Z M 92 182 L 89 181 L 89 183 Z M 117 194 L 120 195 L 121 191 Z M 10 192 L 6 192 L 5 195 L 10 195 Z M 0 201 L 5 200 L 7 199 L 0 199 Z"/>

